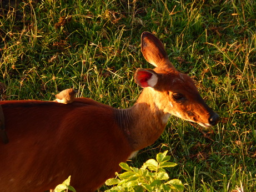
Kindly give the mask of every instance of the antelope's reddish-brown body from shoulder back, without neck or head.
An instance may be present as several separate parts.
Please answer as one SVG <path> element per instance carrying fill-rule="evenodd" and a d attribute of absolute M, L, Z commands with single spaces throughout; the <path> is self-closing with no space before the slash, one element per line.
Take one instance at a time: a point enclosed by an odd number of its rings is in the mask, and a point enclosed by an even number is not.
<path fill-rule="evenodd" d="M 77 191 L 95 191 L 120 170 L 118 164 L 132 151 L 113 108 L 87 98 L 77 100 L 69 105 L 0 102 L 10 140 L 0 144 L 1 191 L 54 189 L 69 175 Z"/>

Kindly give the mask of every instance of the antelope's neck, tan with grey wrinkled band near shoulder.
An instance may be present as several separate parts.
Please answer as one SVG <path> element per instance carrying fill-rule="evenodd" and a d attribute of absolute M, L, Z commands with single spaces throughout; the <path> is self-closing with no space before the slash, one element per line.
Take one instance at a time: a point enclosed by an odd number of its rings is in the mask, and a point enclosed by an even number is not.
<path fill-rule="evenodd" d="M 153 144 L 163 133 L 169 116 L 158 109 L 149 88 L 143 90 L 133 107 L 116 109 L 119 127 L 126 134 L 133 151 Z"/>

